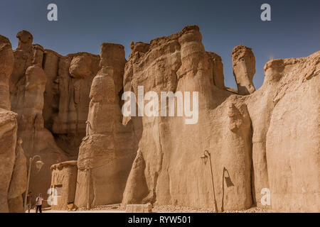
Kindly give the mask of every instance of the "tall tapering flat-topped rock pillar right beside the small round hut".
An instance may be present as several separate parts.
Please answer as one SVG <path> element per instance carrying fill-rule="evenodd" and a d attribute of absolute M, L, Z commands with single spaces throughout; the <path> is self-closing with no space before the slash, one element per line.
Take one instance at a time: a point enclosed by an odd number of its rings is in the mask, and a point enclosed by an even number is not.
<path fill-rule="evenodd" d="M 97 206 L 122 201 L 137 151 L 132 123 L 122 125 L 119 94 L 124 73 L 124 47 L 103 43 L 100 70 L 90 90 L 87 135 L 78 157 L 75 205 Z"/>

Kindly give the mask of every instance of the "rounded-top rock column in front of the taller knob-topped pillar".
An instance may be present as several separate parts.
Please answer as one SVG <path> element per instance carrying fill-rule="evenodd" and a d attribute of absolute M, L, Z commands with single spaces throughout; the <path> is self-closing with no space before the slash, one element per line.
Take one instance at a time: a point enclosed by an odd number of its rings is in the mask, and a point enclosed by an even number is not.
<path fill-rule="evenodd" d="M 44 128 L 43 93 L 46 88 L 46 74 L 42 67 L 32 65 L 27 68 L 24 76 L 22 94 L 18 97 L 18 136 L 22 138 L 23 150 L 27 157 L 40 155 L 44 165 L 41 171 L 36 170 L 33 163 L 29 190 L 34 194 L 46 194 L 50 187 L 50 165 L 65 160 L 63 150 L 55 144 L 53 135 Z M 20 96 L 21 95 L 21 96 Z M 36 161 L 36 160 L 35 160 Z"/>

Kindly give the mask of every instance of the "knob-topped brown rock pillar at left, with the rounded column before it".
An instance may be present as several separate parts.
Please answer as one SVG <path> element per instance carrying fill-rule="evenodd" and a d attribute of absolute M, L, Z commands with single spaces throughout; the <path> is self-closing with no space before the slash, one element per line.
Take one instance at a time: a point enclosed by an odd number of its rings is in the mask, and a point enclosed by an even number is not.
<path fill-rule="evenodd" d="M 52 133 L 44 128 L 43 94 L 47 76 L 42 68 L 43 48 L 32 45 L 32 35 L 27 31 L 19 32 L 17 38 L 19 43 L 14 50 L 14 70 L 10 79 L 11 106 L 18 114 L 18 137 L 23 140 L 21 150 L 28 158 L 40 155 L 45 163 L 40 172 L 33 163 L 29 191 L 47 194 L 50 165 L 67 157 L 56 145 Z M 14 195 L 11 198 L 14 199 Z"/>

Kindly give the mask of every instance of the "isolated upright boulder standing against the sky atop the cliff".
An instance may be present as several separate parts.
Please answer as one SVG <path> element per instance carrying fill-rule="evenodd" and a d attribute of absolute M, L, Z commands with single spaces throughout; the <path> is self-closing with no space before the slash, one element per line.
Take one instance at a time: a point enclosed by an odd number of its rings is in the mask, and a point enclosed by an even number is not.
<path fill-rule="evenodd" d="M 252 49 L 244 45 L 233 48 L 233 75 L 237 82 L 238 94 L 252 94 L 255 92 L 255 85 L 252 82 L 255 75 L 255 55 Z"/>

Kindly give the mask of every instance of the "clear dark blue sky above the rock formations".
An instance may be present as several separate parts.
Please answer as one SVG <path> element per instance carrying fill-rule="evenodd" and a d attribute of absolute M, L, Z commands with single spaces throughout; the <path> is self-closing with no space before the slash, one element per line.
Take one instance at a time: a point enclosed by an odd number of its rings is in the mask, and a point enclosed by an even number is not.
<path fill-rule="evenodd" d="M 58 22 L 47 20 L 47 6 L 58 5 Z M 260 20 L 260 6 L 271 5 L 272 21 Z M 126 55 L 130 42 L 148 42 L 197 24 L 206 50 L 223 59 L 225 84 L 236 87 L 231 51 L 242 44 L 252 48 L 262 85 L 263 66 L 270 59 L 304 57 L 320 50 L 320 1 L 304 0 L 1 0 L 0 34 L 14 48 L 16 33 L 33 34 L 33 43 L 62 55 L 100 52 L 103 42 L 121 43 Z"/>

